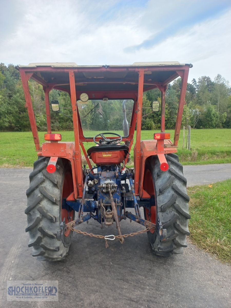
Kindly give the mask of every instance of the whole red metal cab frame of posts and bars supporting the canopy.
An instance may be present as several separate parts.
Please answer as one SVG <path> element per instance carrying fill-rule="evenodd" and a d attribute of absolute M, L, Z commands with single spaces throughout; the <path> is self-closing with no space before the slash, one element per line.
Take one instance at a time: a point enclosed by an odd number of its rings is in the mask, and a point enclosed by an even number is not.
<path fill-rule="evenodd" d="M 41 151 L 41 147 L 39 144 L 39 136 L 38 136 L 38 130 L 36 126 L 35 116 L 34 116 L 34 110 L 32 106 L 32 100 L 30 96 L 30 90 L 28 86 L 28 80 L 30 78 L 34 79 L 41 85 L 43 85 L 43 90 L 45 93 L 45 105 L 46 105 L 46 117 L 47 117 L 47 133 L 51 133 L 51 120 L 50 120 L 50 104 L 49 104 L 49 92 L 51 89 L 57 89 L 61 91 L 66 91 L 71 96 L 71 105 L 72 105 L 72 113 L 73 113 L 73 127 L 74 127 L 74 137 L 75 137 L 75 154 L 74 154 L 74 160 L 76 163 L 77 170 L 82 170 L 82 160 L 81 160 L 81 150 L 80 146 L 83 150 L 83 154 L 87 159 L 87 163 L 89 165 L 89 168 L 92 168 L 90 160 L 87 157 L 86 150 L 84 148 L 83 142 L 92 142 L 93 138 L 90 137 L 84 137 L 83 136 L 83 129 L 81 126 L 81 121 L 79 117 L 79 111 L 77 106 L 77 99 L 79 99 L 79 95 L 81 94 L 80 91 L 78 91 L 78 87 L 84 84 L 91 84 L 91 83 L 99 83 L 99 84 L 106 84 L 106 83 L 121 83 L 121 84 L 137 84 L 138 85 L 138 92 L 134 90 L 128 90 L 128 91 L 112 91 L 112 90 L 106 90 L 106 91 L 86 91 L 86 93 L 89 96 L 89 99 L 93 97 L 95 99 L 102 99 L 103 97 L 108 97 L 109 99 L 133 99 L 134 100 L 134 107 L 132 111 L 132 118 L 130 123 L 130 129 L 129 129 L 129 135 L 128 137 L 123 137 L 122 141 L 128 141 L 129 144 L 129 152 L 132 148 L 133 144 L 133 136 L 136 126 L 136 120 L 137 120 L 137 128 L 136 128 L 136 160 L 134 164 L 135 168 L 135 191 L 136 194 L 138 194 L 138 182 L 140 179 L 140 140 L 141 140 L 141 119 L 142 119 L 142 101 L 143 101 L 143 91 L 148 91 L 154 88 L 158 88 L 161 91 L 161 132 L 164 132 L 165 129 L 165 93 L 166 88 L 169 82 L 176 79 L 178 76 L 181 77 L 182 83 L 181 83 L 181 91 L 180 91 L 180 100 L 178 105 L 178 111 L 177 111 L 177 118 L 176 118 L 176 127 L 175 127 L 175 134 L 174 134 L 174 143 L 169 145 L 168 148 L 177 147 L 179 135 L 180 135 L 180 126 L 181 126 L 181 120 L 182 120 L 182 114 L 183 114 L 183 107 L 185 104 L 185 94 L 186 94 L 186 87 L 187 87 L 187 80 L 188 80 L 188 71 L 189 68 L 192 67 L 192 65 L 169 65 L 169 66 L 134 66 L 134 67 L 51 67 L 51 66 L 41 66 L 41 67 L 19 67 L 19 71 L 21 74 L 22 79 L 22 86 L 25 94 L 26 99 L 26 105 L 30 120 L 30 126 L 34 138 L 34 144 L 36 151 Z M 79 72 L 87 73 L 87 72 L 137 72 L 139 77 L 137 78 L 137 81 L 134 80 L 120 80 L 120 79 L 110 79 L 110 80 L 101 80 L 96 79 L 94 81 L 91 81 L 89 79 L 86 82 L 75 82 L 75 74 Z M 173 75 L 171 75 L 168 79 L 164 80 L 164 82 L 150 82 L 147 80 L 144 80 L 144 75 L 152 72 L 157 71 L 175 71 Z M 65 72 L 69 74 L 69 85 L 70 90 L 67 88 L 63 88 L 63 86 L 67 84 L 55 84 L 55 83 L 47 83 L 42 78 L 40 78 L 38 75 L 36 75 L 36 72 Z M 144 85 L 146 86 L 144 89 Z M 148 87 L 147 87 L 148 86 Z M 76 91 L 77 90 L 77 91 Z M 161 160 L 163 161 L 164 152 L 163 152 L 163 142 L 160 143 L 160 152 L 158 153 L 158 144 L 157 143 L 157 155 L 161 157 Z M 176 152 L 176 151 L 175 151 Z M 128 157 L 125 160 L 125 164 L 127 163 Z M 82 190 L 82 173 L 77 172 L 77 183 L 79 185 L 78 191 Z M 81 196 L 81 193 L 78 194 Z"/>

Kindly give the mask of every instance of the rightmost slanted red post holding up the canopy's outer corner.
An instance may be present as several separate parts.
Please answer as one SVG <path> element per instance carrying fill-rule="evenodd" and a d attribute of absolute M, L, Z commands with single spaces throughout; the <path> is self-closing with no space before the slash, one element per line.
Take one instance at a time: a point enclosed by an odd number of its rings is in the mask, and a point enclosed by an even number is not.
<path fill-rule="evenodd" d="M 174 145 L 177 146 L 179 136 L 180 136 L 180 126 L 182 121 L 182 115 L 184 110 L 184 104 L 185 104 L 185 94 L 187 90 L 187 81 L 188 81 L 188 71 L 189 66 L 185 66 L 184 71 L 177 72 L 181 77 L 181 90 L 180 90 L 180 101 L 178 105 L 178 111 L 176 116 L 176 127 L 175 127 L 175 134 L 174 134 Z"/>

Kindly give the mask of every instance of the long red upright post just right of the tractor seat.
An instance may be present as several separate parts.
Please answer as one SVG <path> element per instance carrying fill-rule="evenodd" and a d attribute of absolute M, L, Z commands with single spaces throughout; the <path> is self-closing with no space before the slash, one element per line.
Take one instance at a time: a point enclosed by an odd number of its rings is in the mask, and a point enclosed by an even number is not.
<path fill-rule="evenodd" d="M 138 184 L 140 179 L 140 140 L 141 140 L 141 120 L 144 88 L 144 69 L 139 71 L 138 98 L 137 98 L 137 124 L 136 124 L 136 160 L 135 160 L 135 193 L 138 195 Z"/>

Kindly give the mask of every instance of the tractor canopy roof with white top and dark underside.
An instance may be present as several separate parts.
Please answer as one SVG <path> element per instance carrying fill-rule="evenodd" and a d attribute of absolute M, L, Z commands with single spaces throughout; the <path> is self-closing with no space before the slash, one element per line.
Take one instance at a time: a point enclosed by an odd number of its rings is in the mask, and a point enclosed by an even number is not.
<path fill-rule="evenodd" d="M 20 71 L 43 86 L 70 92 L 69 71 L 75 72 L 76 91 L 137 91 L 140 69 L 144 69 L 143 91 L 164 86 L 180 76 L 192 64 L 179 62 L 135 62 L 131 65 L 77 65 L 71 63 L 30 63 Z M 78 96 L 78 95 L 77 95 Z"/>

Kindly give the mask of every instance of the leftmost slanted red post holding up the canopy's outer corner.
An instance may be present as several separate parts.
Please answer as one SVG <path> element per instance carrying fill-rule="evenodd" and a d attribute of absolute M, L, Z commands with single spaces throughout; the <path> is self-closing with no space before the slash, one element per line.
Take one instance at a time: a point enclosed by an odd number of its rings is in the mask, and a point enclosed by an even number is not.
<path fill-rule="evenodd" d="M 39 151 L 41 149 L 40 144 L 39 144 L 39 135 L 38 135 L 38 130 L 36 126 L 34 110 L 32 106 L 32 100 L 30 97 L 30 89 L 28 85 L 28 79 L 31 77 L 31 74 L 30 74 L 30 77 L 28 78 L 24 71 L 20 71 L 20 75 L 21 75 L 22 87 L 23 87 L 23 91 L 24 91 L 24 95 L 26 99 L 25 107 L 27 108 L 28 115 L 29 115 L 30 127 L 32 131 L 33 139 L 34 139 L 34 144 L 35 144 L 36 151 Z"/>

